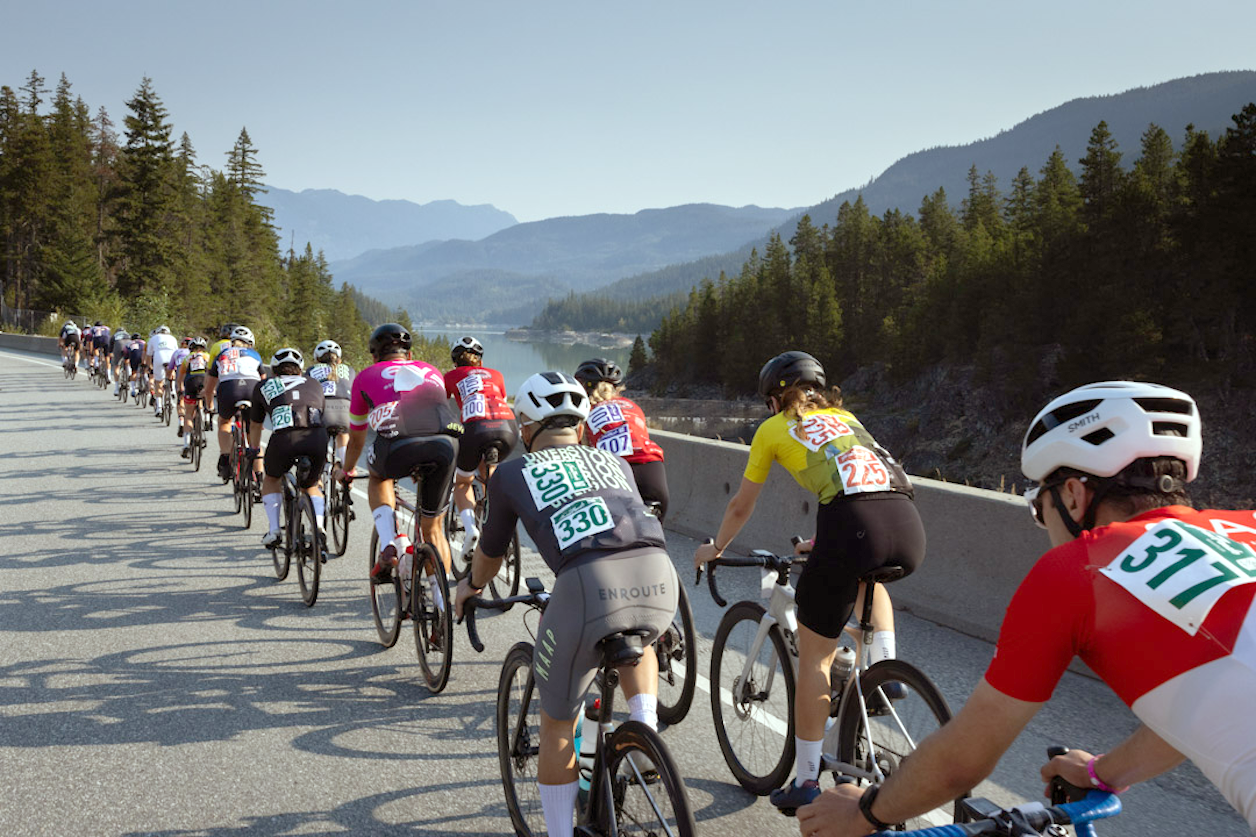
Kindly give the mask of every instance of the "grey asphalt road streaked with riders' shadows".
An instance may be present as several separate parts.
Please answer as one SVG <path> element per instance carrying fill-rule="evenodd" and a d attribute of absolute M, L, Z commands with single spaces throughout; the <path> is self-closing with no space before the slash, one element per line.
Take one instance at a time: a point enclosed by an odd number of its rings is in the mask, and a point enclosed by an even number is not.
<path fill-rule="evenodd" d="M 448 687 L 428 694 L 411 635 L 376 637 L 365 501 L 308 610 L 295 576 L 275 581 L 264 523 L 241 529 L 214 452 L 193 474 L 151 415 L 0 352 L 0 834 L 510 833 L 492 701 L 520 608 L 481 621 L 482 655 L 460 632 Z M 697 543 L 668 543 L 690 567 Z M 525 573 L 544 574 L 535 553 Z M 750 574 L 722 571 L 730 601 L 755 594 Z M 690 593 L 706 674 L 720 608 Z M 898 631 L 960 706 L 991 646 L 909 613 Z M 708 701 L 663 730 L 701 831 L 796 834 L 728 774 Z M 1133 725 L 1105 686 L 1066 675 L 978 792 L 1036 799 L 1049 744 L 1103 752 Z M 1247 833 L 1189 765 L 1123 799 L 1102 834 Z"/>

